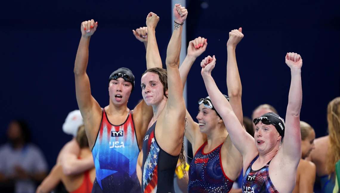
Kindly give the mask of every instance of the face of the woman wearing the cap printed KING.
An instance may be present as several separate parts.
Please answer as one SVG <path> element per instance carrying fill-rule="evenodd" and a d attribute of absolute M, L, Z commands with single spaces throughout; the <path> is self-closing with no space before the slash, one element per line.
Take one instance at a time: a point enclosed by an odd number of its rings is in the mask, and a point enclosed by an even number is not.
<path fill-rule="evenodd" d="M 258 151 L 267 154 L 280 145 L 281 136 L 274 125 L 266 125 L 261 121 L 255 126 L 255 143 Z"/>

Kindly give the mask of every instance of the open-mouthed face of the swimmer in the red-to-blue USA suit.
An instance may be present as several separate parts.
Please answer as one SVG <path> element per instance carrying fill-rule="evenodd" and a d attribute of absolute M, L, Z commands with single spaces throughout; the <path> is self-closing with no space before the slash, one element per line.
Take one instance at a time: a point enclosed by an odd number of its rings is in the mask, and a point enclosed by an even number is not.
<path fill-rule="evenodd" d="M 110 100 L 116 106 L 122 106 L 128 103 L 131 90 L 131 83 L 124 81 L 123 78 L 113 79 L 109 82 L 108 91 Z"/>

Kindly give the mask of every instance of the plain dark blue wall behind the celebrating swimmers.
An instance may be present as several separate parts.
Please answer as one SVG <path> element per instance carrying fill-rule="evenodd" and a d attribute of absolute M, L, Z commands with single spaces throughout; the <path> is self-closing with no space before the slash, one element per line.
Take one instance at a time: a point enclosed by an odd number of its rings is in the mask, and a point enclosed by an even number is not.
<path fill-rule="evenodd" d="M 285 117 L 290 85 L 287 52 L 303 58 L 303 105 L 301 120 L 326 134 L 327 103 L 340 95 L 339 2 L 189 1 L 187 40 L 202 36 L 208 48 L 197 59 L 188 76 L 188 109 L 197 114 L 197 101 L 207 92 L 199 61 L 216 55 L 212 75 L 223 93 L 226 89 L 226 42 L 228 32 L 242 27 L 244 38 L 237 47 L 245 116 L 259 104 L 269 103 Z M 145 48 L 132 30 L 145 26 L 152 11 L 160 17 L 156 36 L 165 61 L 171 37 L 170 1 L 7 1 L 3 3 L 1 35 L 0 142 L 6 140 L 11 119 L 23 117 L 32 127 L 33 142 L 41 147 L 50 167 L 60 148 L 71 139 L 62 131 L 69 111 L 77 109 L 74 88 L 74 59 L 83 20 L 95 19 L 99 26 L 91 38 L 87 73 L 92 95 L 108 104 L 107 79 L 119 67 L 128 67 L 140 84 L 146 69 Z M 307 4 L 308 3 L 308 4 Z M 139 89 L 130 97 L 134 108 L 142 99 Z"/>

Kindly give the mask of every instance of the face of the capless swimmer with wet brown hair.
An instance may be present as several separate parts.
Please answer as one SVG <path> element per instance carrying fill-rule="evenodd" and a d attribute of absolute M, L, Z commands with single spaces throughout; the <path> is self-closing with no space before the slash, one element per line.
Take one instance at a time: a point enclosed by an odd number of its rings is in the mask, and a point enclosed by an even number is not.
<path fill-rule="evenodd" d="M 164 85 L 159 80 L 159 75 L 153 72 L 145 73 L 141 78 L 142 96 L 147 105 L 159 104 L 166 99 Z M 168 91 L 165 92 L 168 94 Z"/>

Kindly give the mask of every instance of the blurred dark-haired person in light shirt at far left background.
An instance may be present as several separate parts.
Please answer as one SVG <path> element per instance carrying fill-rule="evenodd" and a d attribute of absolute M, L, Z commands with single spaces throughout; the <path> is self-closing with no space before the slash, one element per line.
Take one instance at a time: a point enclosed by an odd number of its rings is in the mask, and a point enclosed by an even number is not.
<path fill-rule="evenodd" d="M 47 175 L 48 165 L 40 148 L 30 143 L 30 128 L 24 120 L 12 120 L 8 143 L 0 147 L 0 181 L 14 183 L 15 193 L 34 193 Z"/>

